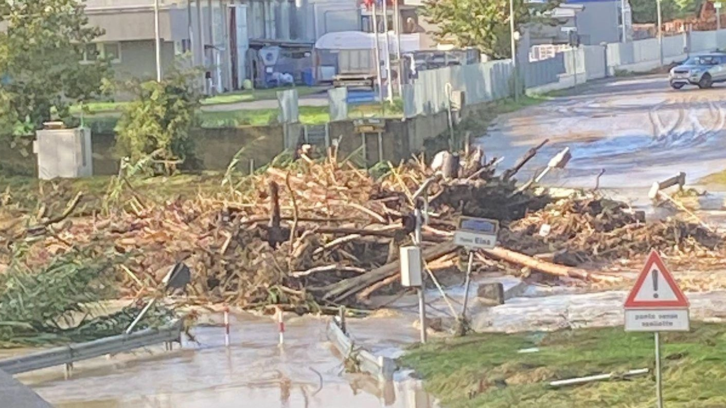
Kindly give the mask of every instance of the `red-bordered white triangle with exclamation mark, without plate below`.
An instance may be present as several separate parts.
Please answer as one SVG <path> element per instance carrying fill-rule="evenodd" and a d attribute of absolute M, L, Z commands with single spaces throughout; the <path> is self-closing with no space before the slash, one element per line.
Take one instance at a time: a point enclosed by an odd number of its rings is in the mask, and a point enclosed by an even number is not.
<path fill-rule="evenodd" d="M 658 252 L 650 252 L 643 272 L 625 301 L 626 308 L 688 307 L 688 299 L 668 271 Z"/>

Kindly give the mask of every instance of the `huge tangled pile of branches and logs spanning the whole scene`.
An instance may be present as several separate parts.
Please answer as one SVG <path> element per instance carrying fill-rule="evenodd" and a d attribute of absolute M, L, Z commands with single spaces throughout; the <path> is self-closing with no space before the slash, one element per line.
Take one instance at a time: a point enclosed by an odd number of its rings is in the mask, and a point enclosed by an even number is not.
<path fill-rule="evenodd" d="M 235 172 L 233 161 L 224 177 L 187 196 L 163 193 L 171 179 L 142 184 L 138 166 L 122 166 L 95 207 L 84 201 L 88 193 L 70 196 L 52 211 L 42 201 L 23 207 L 25 201 L 6 194 L 11 198 L 0 206 L 0 273 L 15 262 L 19 246 L 23 265 L 33 270 L 94 249 L 123 256 L 113 265 L 113 277 L 125 296 L 157 293 L 169 267 L 184 262 L 192 270 L 184 298 L 190 302 L 335 312 L 340 304 L 364 305 L 372 293 L 401 291 L 399 247 L 412 243 L 420 205 L 415 191 L 430 178 L 422 233 L 429 281 L 460 276 L 462 249 L 451 236 L 461 215 L 496 218 L 504 227 L 502 245 L 481 251 L 477 270 L 525 267 L 611 282 L 619 278 L 582 265 L 645 254 L 651 247 L 683 256 L 722 252 L 722 236 L 697 225 L 645 223 L 642 214 L 596 193 L 553 200 L 546 189 L 531 187 L 534 179 L 517 183 L 518 170 L 543 144 L 503 172 L 479 149 L 446 153 L 433 166 L 413 158 L 369 170 L 338 158 L 334 149 L 319 158 L 303 152 L 249 176 Z"/>

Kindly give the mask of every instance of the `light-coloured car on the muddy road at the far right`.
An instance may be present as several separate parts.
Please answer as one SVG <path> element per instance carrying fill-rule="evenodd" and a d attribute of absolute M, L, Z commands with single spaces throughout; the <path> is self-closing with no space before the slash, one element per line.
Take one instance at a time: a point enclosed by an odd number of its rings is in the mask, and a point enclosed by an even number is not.
<path fill-rule="evenodd" d="M 711 88 L 714 83 L 726 82 L 726 54 L 701 54 L 690 57 L 670 71 L 669 80 L 674 89 L 685 85 Z"/>

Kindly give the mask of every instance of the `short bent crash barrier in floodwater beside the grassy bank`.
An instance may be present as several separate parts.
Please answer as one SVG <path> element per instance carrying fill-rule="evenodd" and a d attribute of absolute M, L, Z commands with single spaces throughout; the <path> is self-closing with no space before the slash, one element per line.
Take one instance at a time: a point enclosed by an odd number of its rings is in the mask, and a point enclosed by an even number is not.
<path fill-rule="evenodd" d="M 389 357 L 376 356 L 362 347 L 356 347 L 354 341 L 343 331 L 338 317 L 333 317 L 327 325 L 327 338 L 345 359 L 354 359 L 361 372 L 375 376 L 380 381 L 393 380 L 396 362 Z"/>

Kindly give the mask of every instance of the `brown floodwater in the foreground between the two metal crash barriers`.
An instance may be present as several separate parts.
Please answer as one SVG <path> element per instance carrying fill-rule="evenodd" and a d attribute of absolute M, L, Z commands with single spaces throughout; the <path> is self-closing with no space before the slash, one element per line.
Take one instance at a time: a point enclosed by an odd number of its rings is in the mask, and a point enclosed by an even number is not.
<path fill-rule="evenodd" d="M 193 331 L 199 344 L 185 341 L 181 350 L 159 346 L 136 356 L 78 362 L 70 380 L 63 379 L 62 367 L 17 378 L 61 408 L 436 407 L 420 381 L 404 373 L 380 386 L 370 376 L 344 374 L 325 338 L 325 318 L 288 320 L 282 348 L 277 324 L 269 318 L 232 315 L 230 320 L 229 349 L 224 328 L 200 326 Z M 375 334 L 361 331 L 368 333 L 364 337 Z M 385 324 L 375 331 L 394 332 Z M 378 349 L 392 351 L 409 337 L 388 336 L 398 343 L 380 340 Z"/>

